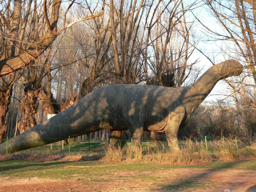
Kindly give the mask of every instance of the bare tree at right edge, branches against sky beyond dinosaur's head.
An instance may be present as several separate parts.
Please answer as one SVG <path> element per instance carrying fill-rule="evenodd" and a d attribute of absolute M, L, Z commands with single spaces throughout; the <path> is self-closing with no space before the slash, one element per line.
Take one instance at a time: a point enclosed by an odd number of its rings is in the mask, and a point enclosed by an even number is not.
<path fill-rule="evenodd" d="M 247 112 L 252 110 L 251 113 L 254 113 L 253 110 L 256 108 L 256 4 L 254 1 L 245 0 L 205 1 L 205 4 L 223 29 L 221 33 L 221 30 L 214 30 L 202 24 L 209 36 L 226 42 L 226 46 L 222 47 L 226 55 L 244 63 L 244 75 L 240 78 L 230 78 L 226 82 L 232 88 L 232 92 L 236 93 L 232 97 L 240 105 L 239 109 L 245 110 L 246 118 Z M 252 131 L 248 131 L 248 136 L 252 135 Z"/>

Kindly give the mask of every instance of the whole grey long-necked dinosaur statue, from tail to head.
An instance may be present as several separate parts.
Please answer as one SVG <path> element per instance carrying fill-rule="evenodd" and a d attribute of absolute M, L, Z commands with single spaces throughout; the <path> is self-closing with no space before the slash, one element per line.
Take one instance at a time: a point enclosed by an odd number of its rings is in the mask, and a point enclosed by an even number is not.
<path fill-rule="evenodd" d="M 215 84 L 242 72 L 236 60 L 227 60 L 208 69 L 189 86 L 116 84 L 99 88 L 60 114 L 9 140 L 8 153 L 48 144 L 45 138 L 75 137 L 103 129 L 113 129 L 112 137 L 129 129 L 139 146 L 143 131 L 166 133 L 169 147 L 179 150 L 178 129 L 183 128 Z M 6 144 L 0 145 L 0 154 Z"/>

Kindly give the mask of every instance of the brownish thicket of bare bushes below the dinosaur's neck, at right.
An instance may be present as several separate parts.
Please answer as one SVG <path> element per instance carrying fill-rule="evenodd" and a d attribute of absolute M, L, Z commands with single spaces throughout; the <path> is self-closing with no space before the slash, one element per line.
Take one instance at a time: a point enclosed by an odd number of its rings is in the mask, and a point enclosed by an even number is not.
<path fill-rule="evenodd" d="M 230 105 L 223 100 L 207 103 L 195 110 L 189 123 L 179 131 L 178 136 L 253 139 L 256 136 L 255 115 L 255 110 L 241 109 L 241 106 Z"/>

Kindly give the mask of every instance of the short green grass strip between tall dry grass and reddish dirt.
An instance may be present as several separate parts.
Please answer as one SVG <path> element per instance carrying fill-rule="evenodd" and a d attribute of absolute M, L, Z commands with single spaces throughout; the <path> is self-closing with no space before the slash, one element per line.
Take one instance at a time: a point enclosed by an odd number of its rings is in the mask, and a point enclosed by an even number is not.
<path fill-rule="evenodd" d="M 140 163 L 128 164 L 105 164 L 101 161 L 94 162 L 33 162 L 33 161 L 2 161 L 0 162 L 1 177 L 8 178 L 23 178 L 26 177 L 41 177 L 51 179 L 73 179 L 89 178 L 94 174 L 97 176 L 111 175 L 119 172 L 146 172 L 154 169 L 169 169 L 169 168 L 202 168 L 209 171 L 220 169 L 247 169 L 255 170 L 255 161 L 233 161 L 233 162 L 214 162 L 207 165 L 154 165 Z M 148 176 L 147 174 L 139 174 L 133 177 L 138 179 L 159 179 L 158 175 Z M 189 183 L 189 181 L 187 181 Z M 186 183 L 187 183 L 186 182 Z"/>

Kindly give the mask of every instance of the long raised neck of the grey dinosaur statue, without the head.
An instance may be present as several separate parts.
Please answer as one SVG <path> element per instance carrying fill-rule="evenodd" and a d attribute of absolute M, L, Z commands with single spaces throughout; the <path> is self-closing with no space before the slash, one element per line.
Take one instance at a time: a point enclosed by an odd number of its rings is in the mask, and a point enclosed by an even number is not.
<path fill-rule="evenodd" d="M 221 69 L 219 65 L 215 65 L 208 69 L 194 83 L 187 86 L 187 92 L 185 94 L 183 103 L 189 116 L 207 97 L 216 83 L 227 76 L 226 70 Z"/>

